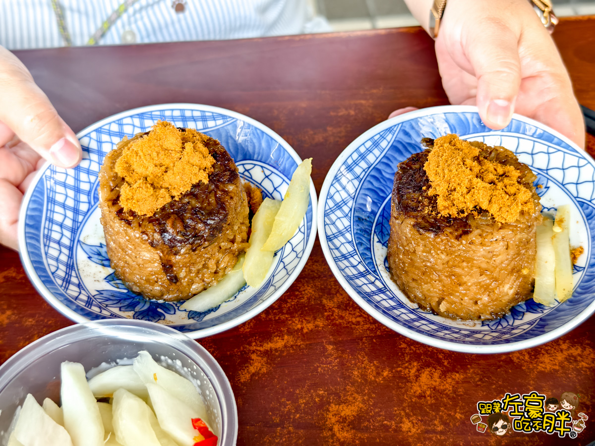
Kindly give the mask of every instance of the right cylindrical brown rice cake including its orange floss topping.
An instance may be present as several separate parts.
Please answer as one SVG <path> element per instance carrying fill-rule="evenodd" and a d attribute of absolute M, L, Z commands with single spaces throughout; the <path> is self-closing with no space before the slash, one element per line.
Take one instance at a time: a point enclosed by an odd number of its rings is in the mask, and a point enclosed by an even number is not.
<path fill-rule="evenodd" d="M 536 175 L 504 147 L 456 135 L 423 142 L 394 175 L 391 277 L 422 309 L 499 318 L 533 291 Z"/>

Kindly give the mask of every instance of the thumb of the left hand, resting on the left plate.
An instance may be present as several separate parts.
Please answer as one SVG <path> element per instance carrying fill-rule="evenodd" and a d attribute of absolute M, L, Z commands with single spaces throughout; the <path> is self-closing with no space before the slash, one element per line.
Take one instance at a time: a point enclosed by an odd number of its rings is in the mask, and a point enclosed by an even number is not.
<path fill-rule="evenodd" d="M 74 132 L 60 118 L 25 66 L 0 47 L 0 121 L 43 158 L 74 167 L 82 157 Z"/>

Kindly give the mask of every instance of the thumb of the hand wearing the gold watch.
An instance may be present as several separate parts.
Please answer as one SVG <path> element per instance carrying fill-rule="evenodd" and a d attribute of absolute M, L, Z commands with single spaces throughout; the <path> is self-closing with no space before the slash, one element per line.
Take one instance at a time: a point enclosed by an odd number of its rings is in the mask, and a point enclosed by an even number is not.
<path fill-rule="evenodd" d="M 518 36 L 505 25 L 487 23 L 466 40 L 466 54 L 477 78 L 477 108 L 494 130 L 511 121 L 521 86 Z"/>

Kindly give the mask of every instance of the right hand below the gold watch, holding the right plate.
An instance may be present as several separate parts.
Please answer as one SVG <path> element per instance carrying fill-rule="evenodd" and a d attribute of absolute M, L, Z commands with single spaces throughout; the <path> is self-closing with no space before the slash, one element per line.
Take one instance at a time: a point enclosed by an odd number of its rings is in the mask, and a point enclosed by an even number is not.
<path fill-rule="evenodd" d="M 583 115 L 570 78 L 527 0 L 448 0 L 436 58 L 450 103 L 477 105 L 488 127 L 506 127 L 516 112 L 584 147 Z"/>

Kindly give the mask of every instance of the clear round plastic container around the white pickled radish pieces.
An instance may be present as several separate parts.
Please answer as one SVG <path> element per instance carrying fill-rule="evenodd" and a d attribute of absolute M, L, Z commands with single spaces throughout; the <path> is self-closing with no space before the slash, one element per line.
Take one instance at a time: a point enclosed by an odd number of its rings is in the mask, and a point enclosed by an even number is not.
<path fill-rule="evenodd" d="M 231 386 L 215 359 L 179 331 L 152 322 L 105 319 L 68 326 L 18 351 L 0 367 L 0 444 L 27 394 L 41 404 L 46 397 L 60 401 L 60 365 L 80 362 L 89 370 L 130 363 L 141 350 L 168 369 L 192 379 L 201 391 L 218 446 L 234 446 L 237 407 Z M 128 360 L 128 361 L 127 361 Z M 93 373 L 93 372 L 91 372 Z"/>

